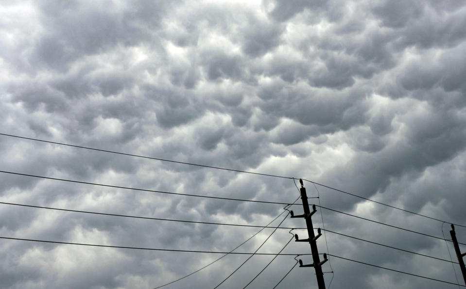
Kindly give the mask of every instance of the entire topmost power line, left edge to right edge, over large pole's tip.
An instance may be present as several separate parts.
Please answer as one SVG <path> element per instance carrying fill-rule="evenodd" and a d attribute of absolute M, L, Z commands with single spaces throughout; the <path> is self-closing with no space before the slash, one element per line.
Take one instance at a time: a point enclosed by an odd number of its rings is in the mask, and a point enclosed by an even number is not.
<path fill-rule="evenodd" d="M 184 162 L 184 161 L 173 161 L 173 160 L 168 160 L 168 159 L 154 158 L 154 157 L 141 156 L 141 155 L 135 155 L 135 154 L 129 154 L 129 153 L 111 151 L 111 150 L 100 149 L 100 148 L 87 147 L 87 146 L 82 146 L 82 145 L 65 144 L 65 143 L 58 143 L 58 142 L 46 141 L 46 140 L 41 140 L 41 139 L 36 139 L 36 138 L 29 138 L 29 137 L 23 137 L 23 136 L 18 136 L 18 135 L 13 135 L 13 134 L 7 134 L 7 133 L 0 133 L 0 135 L 9 136 L 9 137 L 14 137 L 14 138 L 19 138 L 19 139 L 25 139 L 25 140 L 31 140 L 31 141 L 36 141 L 36 142 L 42 142 L 42 143 L 66 145 L 66 146 L 70 146 L 70 147 L 83 148 L 83 149 L 89 149 L 89 150 L 94 150 L 94 151 L 101 151 L 101 152 L 106 152 L 106 153 L 112 153 L 112 154 L 118 154 L 118 155 L 125 155 L 125 156 L 137 157 L 137 158 L 143 158 L 143 159 L 149 159 L 149 160 L 167 161 L 167 162 L 173 162 L 173 163 L 179 163 L 179 164 L 193 165 L 193 166 L 198 166 L 198 167 L 205 167 L 205 168 L 218 169 L 218 170 L 224 170 L 224 171 L 231 171 L 231 172 L 237 172 L 237 173 L 245 173 L 245 174 L 259 175 L 259 176 L 279 177 L 279 178 L 293 178 L 293 179 L 294 179 L 294 177 L 286 177 L 286 176 L 279 176 L 279 175 L 272 175 L 272 174 L 263 174 L 263 173 L 242 171 L 242 170 L 229 169 L 229 168 L 216 167 L 216 166 L 209 166 L 209 165 L 197 164 L 197 163 L 190 163 L 190 162 Z M 330 187 L 330 186 L 327 186 L 327 185 L 324 185 L 324 184 L 321 184 L 321 183 L 318 183 L 318 182 L 314 182 L 314 181 L 311 181 L 311 180 L 308 180 L 308 179 L 304 179 L 304 178 L 303 178 L 303 180 L 308 181 L 308 182 L 311 182 L 311 183 L 313 183 L 313 184 L 317 184 L 317 185 L 319 185 L 319 186 L 322 186 L 322 187 L 325 187 L 325 188 L 328 188 L 328 189 L 331 189 L 331 190 L 334 190 L 334 191 L 337 191 L 337 192 L 340 192 L 340 193 L 345 193 L 345 194 L 348 194 L 348 195 L 352 195 L 352 196 L 355 196 L 355 197 L 358 197 L 358 198 L 361 198 L 361 199 L 364 199 L 364 200 L 367 200 L 367 201 L 371 201 L 371 202 L 374 202 L 374 203 L 377 203 L 377 204 L 380 204 L 380 205 L 383 205 L 383 206 L 387 206 L 387 207 L 390 207 L 390 208 L 393 208 L 393 209 L 398 209 L 398 210 L 401 210 L 401 211 L 404 211 L 404 212 L 407 212 L 407 213 L 411 213 L 411 214 L 418 215 L 418 216 L 421 216 L 421 217 L 429 218 L 429 219 L 431 219 L 431 220 L 435 220 L 435 221 L 439 221 L 439 222 L 451 223 L 451 224 L 453 224 L 453 225 L 460 226 L 460 227 L 466 227 L 466 225 L 455 224 L 455 223 L 452 223 L 452 222 L 447 222 L 447 221 L 440 220 L 440 219 L 437 219 L 437 218 L 429 217 L 429 216 L 427 216 L 427 215 L 419 214 L 419 213 L 416 213 L 416 212 L 413 212 L 413 211 L 410 211 L 410 210 L 401 209 L 401 208 L 398 208 L 398 207 L 395 207 L 395 206 L 392 206 L 392 205 L 388 205 L 388 204 L 385 204 L 385 203 L 382 203 L 382 202 L 378 202 L 378 201 L 375 201 L 375 200 L 372 200 L 372 199 L 368 199 L 368 198 L 362 197 L 362 196 L 357 195 L 357 194 L 348 193 L 348 192 L 345 192 L 345 191 L 343 191 L 343 190 L 339 190 L 339 189 L 336 189 L 336 188 L 333 188 L 333 187 Z M 287 205 L 287 204 L 282 204 L 282 205 Z"/>

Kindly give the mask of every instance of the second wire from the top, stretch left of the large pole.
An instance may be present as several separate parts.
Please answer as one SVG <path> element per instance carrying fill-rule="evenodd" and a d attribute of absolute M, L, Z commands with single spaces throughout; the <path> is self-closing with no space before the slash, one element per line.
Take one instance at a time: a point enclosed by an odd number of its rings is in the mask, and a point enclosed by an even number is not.
<path fill-rule="evenodd" d="M 125 189 L 125 190 L 133 190 L 133 191 L 150 192 L 150 193 L 168 193 L 168 194 L 175 194 L 175 195 L 182 195 L 182 196 L 201 197 L 201 198 L 209 198 L 209 199 L 220 199 L 220 200 L 228 200 L 228 201 L 254 202 L 254 203 L 277 204 L 277 205 L 291 205 L 291 204 L 280 203 L 280 202 L 255 201 L 255 200 L 245 200 L 245 199 L 235 199 L 235 198 L 223 198 L 223 197 L 214 197 L 214 196 L 203 196 L 203 195 L 188 194 L 188 193 L 172 193 L 172 192 L 164 192 L 164 191 L 155 191 L 155 190 L 146 190 L 146 189 L 136 189 L 136 188 L 129 188 L 129 187 L 121 187 L 121 186 L 113 186 L 113 185 L 105 185 L 105 184 L 98 184 L 98 183 L 83 182 L 83 181 L 70 180 L 70 179 L 64 179 L 64 178 L 43 177 L 43 176 L 36 176 L 36 175 L 28 175 L 28 174 L 21 174 L 21 173 L 8 172 L 8 171 L 0 171 L 0 173 L 12 174 L 12 175 L 19 175 L 19 176 L 26 176 L 26 177 L 38 177 L 38 178 L 59 180 L 59 181 L 64 181 L 64 182 L 71 182 L 71 183 L 78 183 L 78 184 L 86 184 L 86 185 L 94 185 L 94 186 L 101 186 L 101 187 L 108 187 L 108 188 Z"/>

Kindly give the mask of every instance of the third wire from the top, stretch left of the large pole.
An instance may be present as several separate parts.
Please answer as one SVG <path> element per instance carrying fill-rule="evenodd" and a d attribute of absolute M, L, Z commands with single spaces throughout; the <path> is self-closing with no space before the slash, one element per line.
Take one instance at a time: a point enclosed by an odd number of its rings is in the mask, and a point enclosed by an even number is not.
<path fill-rule="evenodd" d="M 96 214 L 96 215 L 114 216 L 114 217 L 126 217 L 126 218 L 137 218 L 137 219 L 158 220 L 158 221 L 171 221 L 171 222 L 182 222 L 182 223 L 195 223 L 195 224 L 208 224 L 208 225 L 226 225 L 226 226 L 240 226 L 240 227 L 253 227 L 253 228 L 306 229 L 306 228 L 304 228 L 304 227 L 303 227 L 303 228 L 269 227 L 268 225 L 265 225 L 265 226 L 259 226 L 259 225 L 241 225 L 241 224 L 213 223 L 213 222 L 185 221 L 185 220 L 164 219 L 164 218 L 140 217 L 140 216 L 131 216 L 131 215 L 120 215 L 120 214 L 99 213 L 99 212 L 82 211 L 82 210 L 59 209 L 59 208 L 52 208 L 52 207 L 41 207 L 41 206 L 33 206 L 33 205 L 23 205 L 23 204 L 6 203 L 6 202 L 0 202 L 0 204 L 4 204 L 4 205 L 13 205 L 13 206 L 21 206 L 21 207 L 30 207 L 30 208 L 38 208 L 38 209 L 52 209 L 52 210 L 67 211 L 67 212 L 76 212 L 76 213 L 86 213 L 86 214 Z"/>

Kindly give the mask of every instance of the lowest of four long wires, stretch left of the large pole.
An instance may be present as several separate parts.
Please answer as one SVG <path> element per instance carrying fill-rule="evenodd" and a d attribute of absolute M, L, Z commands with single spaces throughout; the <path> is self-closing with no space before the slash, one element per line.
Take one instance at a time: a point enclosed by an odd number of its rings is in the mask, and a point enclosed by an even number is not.
<path fill-rule="evenodd" d="M 87 243 L 73 243 L 73 242 L 60 242 L 60 241 L 44 241 L 44 240 L 35 240 L 35 239 L 24 239 L 24 238 L 12 238 L 12 237 L 1 237 L 0 239 L 7 240 L 19 240 L 19 241 L 32 241 L 32 242 L 42 242 L 42 243 L 55 243 L 55 244 L 66 244 L 66 245 L 80 245 L 80 246 L 91 246 L 91 247 L 106 247 L 106 248 L 121 248 L 121 249 L 137 249 L 137 250 L 151 250 L 151 251 L 169 251 L 169 252 L 190 252 L 190 253 L 210 253 L 210 254 L 237 254 L 237 255 L 277 255 L 274 253 L 243 253 L 243 252 L 217 252 L 217 251 L 199 251 L 199 250 L 176 250 L 176 249 L 158 249 L 158 248 L 140 248 L 140 247 L 126 247 L 126 246 L 112 246 L 112 245 L 96 245 L 96 244 L 87 244 Z M 296 256 L 296 254 L 278 254 L 280 256 Z M 311 254 L 301 254 L 301 255 L 311 255 Z"/>

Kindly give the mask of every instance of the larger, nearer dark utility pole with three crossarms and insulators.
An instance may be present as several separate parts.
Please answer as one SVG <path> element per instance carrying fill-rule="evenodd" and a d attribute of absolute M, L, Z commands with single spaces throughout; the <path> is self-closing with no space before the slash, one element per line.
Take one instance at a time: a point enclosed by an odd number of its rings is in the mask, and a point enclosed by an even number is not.
<path fill-rule="evenodd" d="M 324 264 L 327 261 L 327 254 L 324 254 L 324 260 L 321 262 L 319 258 L 319 251 L 317 250 L 317 244 L 315 241 L 322 234 L 320 232 L 320 229 L 317 229 L 318 234 L 317 236 L 314 235 L 314 227 L 312 226 L 311 220 L 311 217 L 316 212 L 316 209 L 315 205 L 313 205 L 312 212 L 309 210 L 308 195 L 306 194 L 306 188 L 303 187 L 303 180 L 299 179 L 299 183 L 301 184 L 300 192 L 301 199 L 303 200 L 304 214 L 295 216 L 293 211 L 290 211 L 290 214 L 292 218 L 304 217 L 304 219 L 306 220 L 306 226 L 308 227 L 309 238 L 300 240 L 298 239 L 297 234 L 294 235 L 294 238 L 296 239 L 296 242 L 309 242 L 309 244 L 311 244 L 312 260 L 314 261 L 312 264 L 303 265 L 303 261 L 299 259 L 299 267 L 314 267 L 315 274 L 317 276 L 317 285 L 319 286 L 319 289 L 325 289 L 324 273 L 322 273 L 322 264 Z"/>

